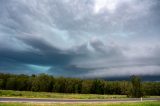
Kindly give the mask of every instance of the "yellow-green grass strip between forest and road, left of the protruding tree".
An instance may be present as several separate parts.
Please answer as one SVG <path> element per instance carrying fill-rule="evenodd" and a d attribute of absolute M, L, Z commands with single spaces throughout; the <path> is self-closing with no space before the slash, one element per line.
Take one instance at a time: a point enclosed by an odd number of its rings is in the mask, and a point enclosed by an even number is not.
<path fill-rule="evenodd" d="M 112 99 L 112 98 L 116 99 L 116 98 L 126 98 L 126 95 L 65 94 L 65 93 L 0 90 L 0 97 L 54 98 L 54 99 Z"/>

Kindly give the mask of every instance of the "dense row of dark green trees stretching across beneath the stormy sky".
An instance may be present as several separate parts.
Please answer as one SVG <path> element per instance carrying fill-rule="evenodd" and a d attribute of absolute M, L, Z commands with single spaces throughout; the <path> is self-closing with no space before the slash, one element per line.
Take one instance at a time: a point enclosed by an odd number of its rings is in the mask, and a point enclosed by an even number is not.
<path fill-rule="evenodd" d="M 15 75 L 0 73 L 0 89 L 35 92 L 120 94 L 131 97 L 160 95 L 160 82 L 142 82 L 131 76 L 130 81 L 87 80 L 54 77 L 47 74 Z"/>

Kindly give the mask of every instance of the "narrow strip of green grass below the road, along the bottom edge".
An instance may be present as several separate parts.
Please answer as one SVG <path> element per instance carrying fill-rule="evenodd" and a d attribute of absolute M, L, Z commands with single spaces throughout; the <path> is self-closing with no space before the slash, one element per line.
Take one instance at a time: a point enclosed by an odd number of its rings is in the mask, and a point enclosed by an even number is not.
<path fill-rule="evenodd" d="M 160 106 L 158 102 L 128 102 L 128 103 L 69 103 L 69 104 L 35 104 L 35 103 L 0 103 L 0 106 Z"/>

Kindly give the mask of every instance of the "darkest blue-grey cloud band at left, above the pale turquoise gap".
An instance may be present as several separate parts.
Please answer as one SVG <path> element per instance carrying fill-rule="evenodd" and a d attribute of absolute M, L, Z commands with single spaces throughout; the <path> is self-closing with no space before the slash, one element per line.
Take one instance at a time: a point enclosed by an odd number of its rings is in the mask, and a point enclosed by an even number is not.
<path fill-rule="evenodd" d="M 34 41 L 33 44 L 40 45 L 41 47 L 38 48 L 40 51 L 12 51 L 3 49 L 0 51 L 0 57 L 7 57 L 22 63 L 37 65 L 64 65 L 68 64 L 70 60 L 74 58 L 74 54 L 63 53 L 63 51 L 59 51 L 55 48 L 44 50 L 43 47 L 48 46 L 43 45 L 42 42 Z M 35 45 L 33 44 L 32 46 L 34 47 Z M 35 49 L 37 48 L 35 47 Z"/>

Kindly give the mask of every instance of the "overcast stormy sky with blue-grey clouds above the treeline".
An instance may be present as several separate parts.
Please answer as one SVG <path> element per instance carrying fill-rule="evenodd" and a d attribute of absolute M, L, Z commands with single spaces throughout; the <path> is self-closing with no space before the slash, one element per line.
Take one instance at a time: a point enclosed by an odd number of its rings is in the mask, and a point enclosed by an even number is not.
<path fill-rule="evenodd" d="M 0 72 L 160 76 L 159 10 L 160 0 L 0 0 Z"/>

